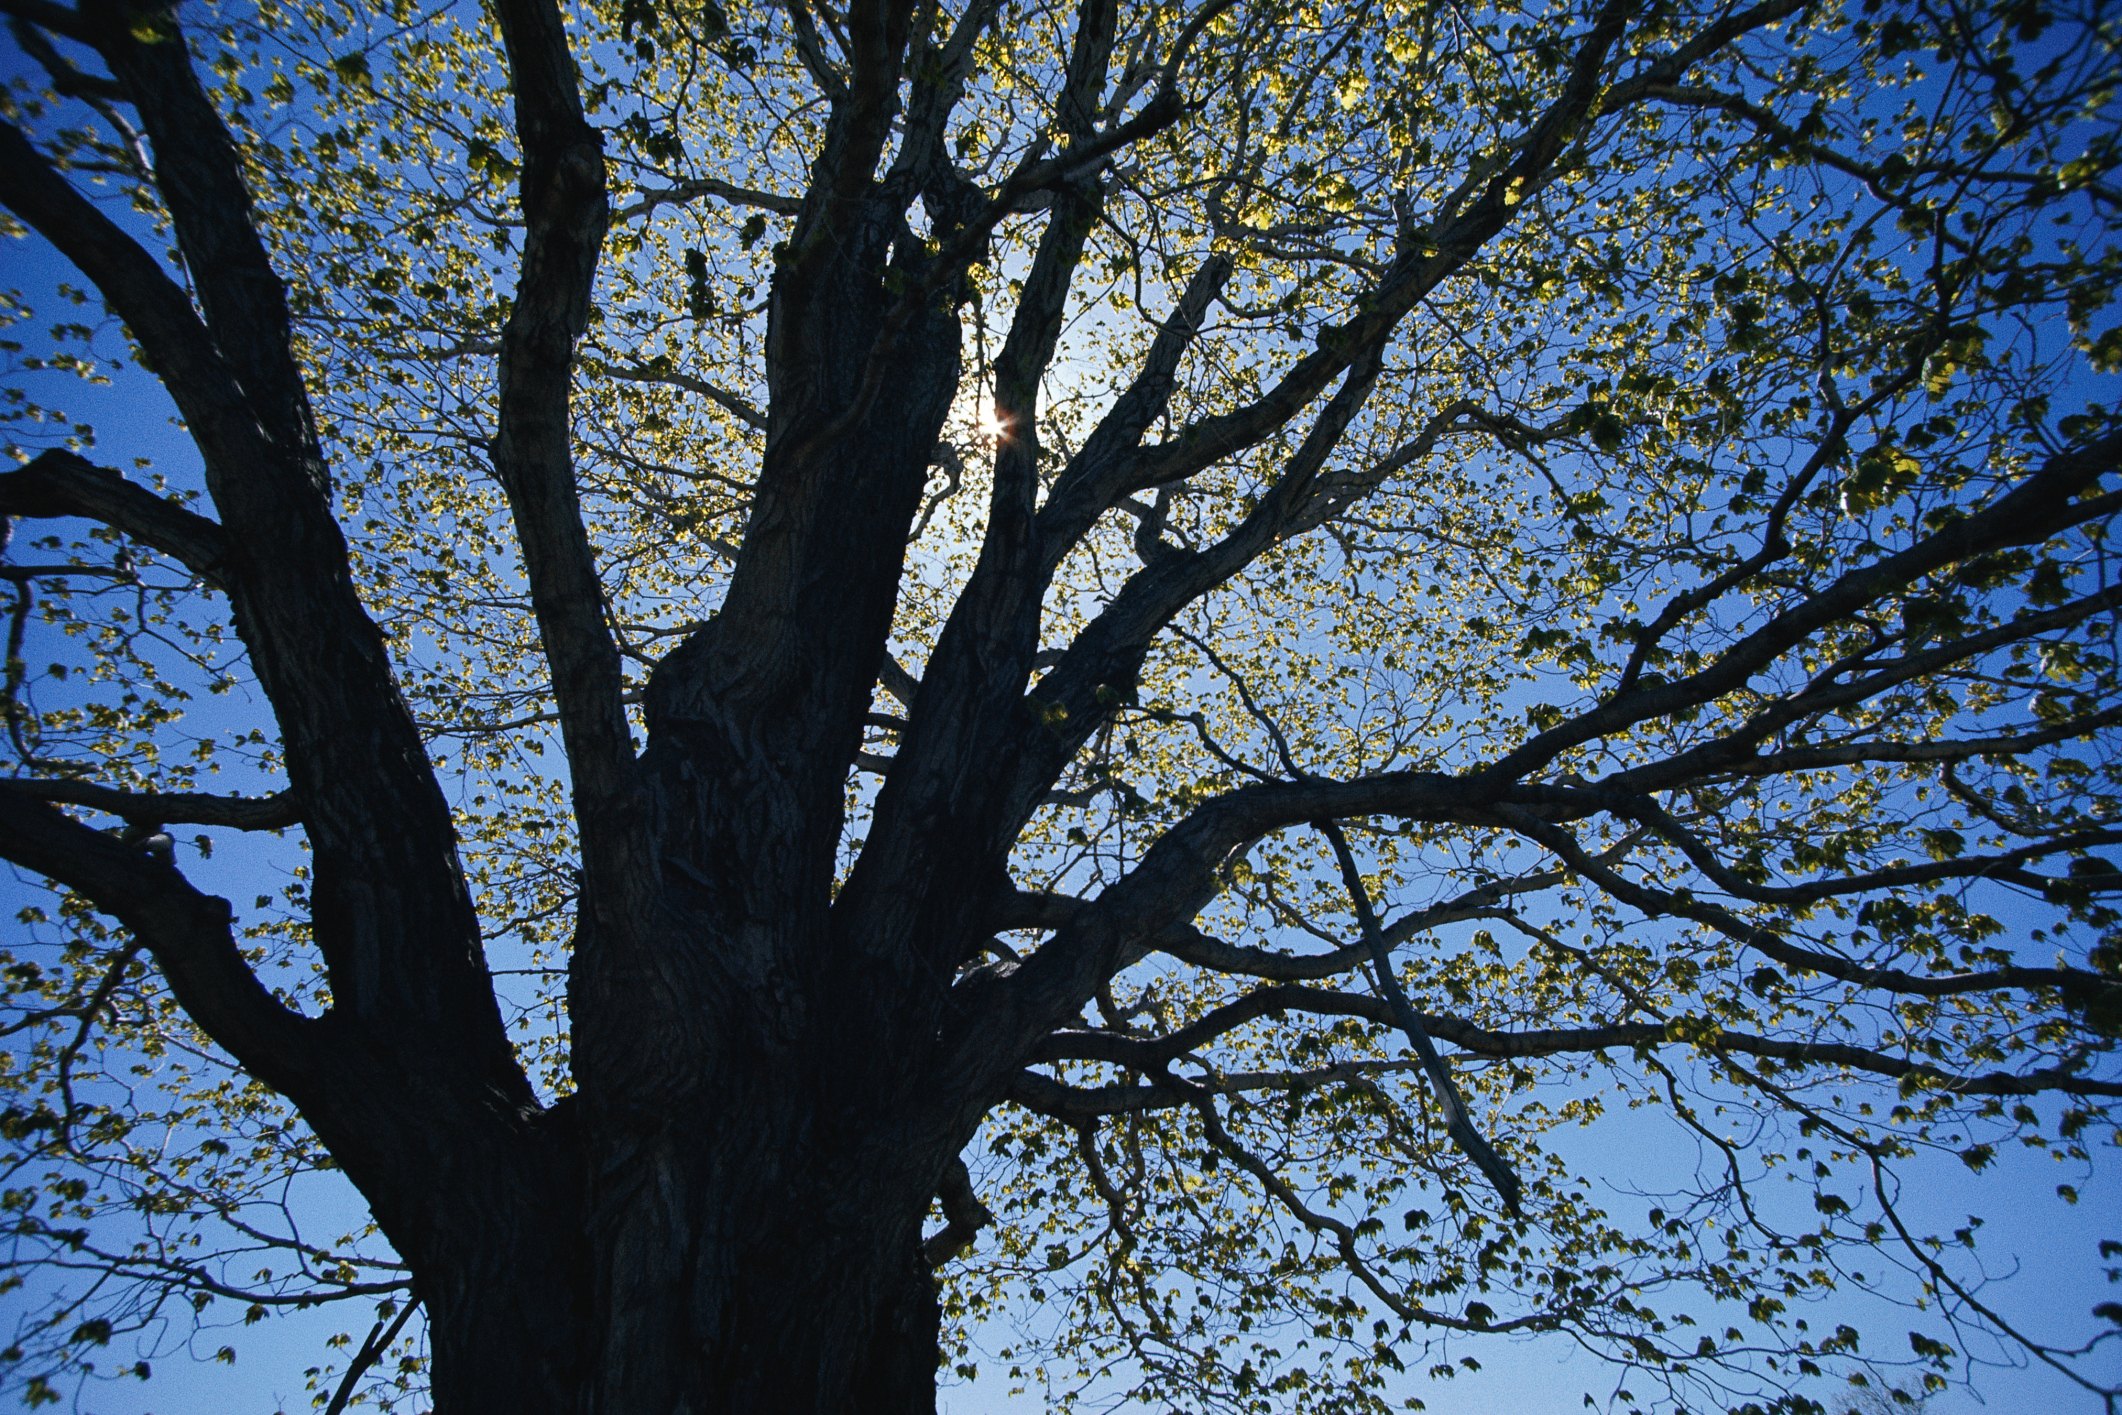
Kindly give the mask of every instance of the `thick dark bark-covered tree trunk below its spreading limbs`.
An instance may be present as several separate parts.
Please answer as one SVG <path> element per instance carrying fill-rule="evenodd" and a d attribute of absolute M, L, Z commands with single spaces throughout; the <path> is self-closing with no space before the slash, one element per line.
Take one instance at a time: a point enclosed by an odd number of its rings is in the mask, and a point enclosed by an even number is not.
<path fill-rule="evenodd" d="M 862 965 L 787 963 L 830 950 L 798 942 L 802 914 L 673 929 L 630 965 L 590 948 L 620 965 L 598 989 L 577 950 L 577 989 L 613 997 L 581 1010 L 579 1090 L 511 1180 L 460 1175 L 399 1243 L 437 1415 L 934 1411 L 921 1230 L 966 1112 L 934 1080 L 932 1008 L 870 1006 L 889 984 Z"/>

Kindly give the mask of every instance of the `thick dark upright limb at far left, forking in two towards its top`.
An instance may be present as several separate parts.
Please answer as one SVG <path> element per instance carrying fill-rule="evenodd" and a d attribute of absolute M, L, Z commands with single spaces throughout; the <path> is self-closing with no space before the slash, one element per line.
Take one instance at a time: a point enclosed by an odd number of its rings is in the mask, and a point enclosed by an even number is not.
<path fill-rule="evenodd" d="M 278 717 L 316 853 L 312 919 L 335 1014 L 388 1023 L 395 1044 L 448 1054 L 439 1084 L 467 1082 L 530 1105 L 456 868 L 448 802 L 352 583 L 284 297 L 255 229 L 231 225 L 246 225 L 250 210 L 233 144 L 168 11 L 146 15 L 136 34 L 127 13 L 104 4 L 95 42 L 155 144 L 157 187 L 180 244 L 193 263 L 225 263 L 193 272 L 219 325 L 202 322 L 159 261 L 8 125 L 0 125 L 0 202 L 102 291 L 204 454 L 223 528 L 216 575 Z M 229 348 L 238 339 L 242 348 Z M 233 1050 L 208 1016 L 197 1020 Z M 329 1116 L 312 1120 L 329 1126 Z"/>

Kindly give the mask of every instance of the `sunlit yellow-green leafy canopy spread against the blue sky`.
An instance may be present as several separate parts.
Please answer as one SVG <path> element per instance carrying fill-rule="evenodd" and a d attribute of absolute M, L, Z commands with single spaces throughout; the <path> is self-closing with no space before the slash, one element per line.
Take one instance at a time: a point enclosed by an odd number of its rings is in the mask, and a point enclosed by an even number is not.
<path fill-rule="evenodd" d="M 6 11 L 30 62 L 8 119 L 187 272 L 168 155 L 83 21 Z M 864 13 L 567 15 L 611 210 L 573 477 L 637 745 L 651 670 L 758 541 L 770 446 L 830 433 L 787 412 L 768 314 L 825 221 Z M 1479 1332 L 1568 1332 L 1630 1409 L 1935 1387 L 1999 1339 L 2080 1370 L 2094 1345 L 2018 1332 L 1976 1235 L 1916 1226 L 1897 1175 L 2012 1148 L 2090 1167 L 2122 1135 L 2116 17 L 1144 2 L 1082 100 L 1095 2 L 906 13 L 902 115 L 859 176 L 904 212 L 883 299 L 940 303 L 963 352 L 917 516 L 872 524 L 904 562 L 834 887 L 893 829 L 881 783 L 944 715 L 915 683 L 946 626 L 980 630 L 1023 494 L 1053 554 L 1004 689 L 1025 770 L 1055 770 L 1006 821 L 1016 893 L 953 965 L 976 986 L 1059 957 L 1150 887 L 1176 910 L 1127 914 L 1148 923 L 966 1148 L 985 1222 L 963 1245 L 940 1201 L 944 1360 L 1006 1330 L 1053 1402 L 1233 1411 L 1384 1409 Z M 180 36 L 125 15 L 187 47 L 236 138 L 361 605 L 550 1105 L 575 1084 L 581 768 L 497 475 L 537 229 L 503 30 L 410 0 L 187 6 Z M 946 176 L 912 174 L 917 134 Z M 123 293 L 6 299 L 6 800 L 174 851 L 323 1016 L 348 982 L 216 566 L 28 482 L 153 441 L 119 403 L 168 354 Z M 853 361 L 887 403 L 889 339 Z M 1161 359 L 1169 390 L 1116 443 Z M 74 386 L 104 380 L 117 399 Z M 187 456 L 129 475 L 204 513 Z M 995 740 L 963 759 L 1014 762 Z M 182 796 L 206 789 L 242 804 Z M 1167 885 L 1248 810 L 1212 897 Z M 346 1303 L 318 1404 L 348 1368 L 418 1398 L 407 1269 L 320 1196 L 325 1146 L 95 889 L 0 851 L 74 885 L 4 957 L 8 1281 L 42 1303 L 17 1396 Z M 1451 1137 L 1396 991 L 1521 1213 Z M 1585 1173 L 1606 1129 L 1672 1160 L 1628 1177 L 1640 1199 Z M 1918 1305 L 1916 1330 L 1808 1326 L 1838 1288 Z"/>

